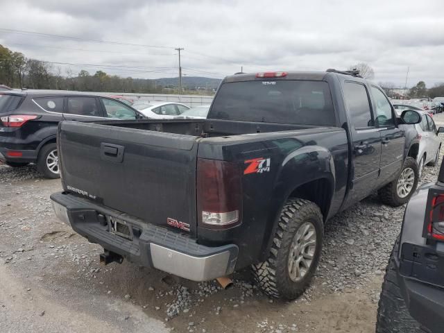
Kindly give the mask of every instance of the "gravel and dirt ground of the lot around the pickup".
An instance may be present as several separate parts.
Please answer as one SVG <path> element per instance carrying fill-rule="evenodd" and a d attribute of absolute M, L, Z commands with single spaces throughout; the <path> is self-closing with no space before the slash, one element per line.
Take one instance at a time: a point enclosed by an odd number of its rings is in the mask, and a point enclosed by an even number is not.
<path fill-rule="evenodd" d="M 435 116 L 444 122 L 444 116 Z M 441 152 L 441 156 L 443 155 Z M 426 167 L 422 182 L 436 180 Z M 377 300 L 404 207 L 373 194 L 325 227 L 309 290 L 269 300 L 248 270 L 234 287 L 194 283 L 128 262 L 99 266 L 89 244 L 53 214 L 33 165 L 0 165 L 0 332 L 374 332 Z"/>

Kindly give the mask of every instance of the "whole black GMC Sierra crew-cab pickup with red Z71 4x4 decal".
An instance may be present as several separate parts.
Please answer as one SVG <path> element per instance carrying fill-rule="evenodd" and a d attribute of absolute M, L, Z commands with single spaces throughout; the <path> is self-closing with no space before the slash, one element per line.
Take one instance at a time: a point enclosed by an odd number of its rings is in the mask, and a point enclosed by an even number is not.
<path fill-rule="evenodd" d="M 291 299 L 316 271 L 325 221 L 376 189 L 407 202 L 417 145 L 352 73 L 239 74 L 207 119 L 60 123 L 64 191 L 51 199 L 105 263 L 194 281 L 253 266 L 269 296 Z"/>

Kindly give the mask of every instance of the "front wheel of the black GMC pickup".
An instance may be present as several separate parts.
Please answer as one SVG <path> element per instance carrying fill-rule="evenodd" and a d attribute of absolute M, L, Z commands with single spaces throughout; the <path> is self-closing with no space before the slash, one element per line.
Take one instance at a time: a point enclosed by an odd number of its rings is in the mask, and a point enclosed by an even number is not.
<path fill-rule="evenodd" d="M 378 190 L 379 199 L 393 207 L 404 205 L 416 190 L 418 180 L 418 163 L 412 157 L 407 157 L 398 178 Z"/>

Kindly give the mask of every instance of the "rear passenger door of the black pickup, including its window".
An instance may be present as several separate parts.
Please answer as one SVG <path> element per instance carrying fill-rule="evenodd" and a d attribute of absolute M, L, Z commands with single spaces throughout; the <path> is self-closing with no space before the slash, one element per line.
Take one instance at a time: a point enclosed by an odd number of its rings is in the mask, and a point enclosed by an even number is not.
<path fill-rule="evenodd" d="M 352 137 L 352 184 L 344 203 L 347 207 L 375 189 L 379 173 L 381 136 L 375 127 L 366 85 L 345 81 L 343 94 Z"/>

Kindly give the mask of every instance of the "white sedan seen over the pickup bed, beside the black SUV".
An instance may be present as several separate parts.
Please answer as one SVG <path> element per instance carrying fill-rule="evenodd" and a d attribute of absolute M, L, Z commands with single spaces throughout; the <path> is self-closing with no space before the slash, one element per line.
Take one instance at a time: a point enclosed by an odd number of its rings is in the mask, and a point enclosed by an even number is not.
<path fill-rule="evenodd" d="M 174 119 L 189 107 L 182 103 L 161 101 L 137 101 L 133 108 L 142 112 L 149 119 Z"/>

